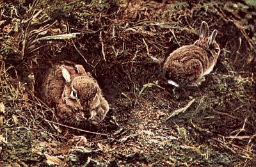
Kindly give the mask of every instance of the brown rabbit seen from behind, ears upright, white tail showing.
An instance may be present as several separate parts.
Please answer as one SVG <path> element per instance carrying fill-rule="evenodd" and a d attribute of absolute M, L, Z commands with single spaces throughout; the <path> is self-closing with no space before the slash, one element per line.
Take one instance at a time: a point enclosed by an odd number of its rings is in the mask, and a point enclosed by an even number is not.
<path fill-rule="evenodd" d="M 220 46 L 215 42 L 218 31 L 209 36 L 208 24 L 203 21 L 200 38 L 193 45 L 184 45 L 173 51 L 164 63 L 164 74 L 173 86 L 198 86 L 209 74 L 218 57 Z"/>

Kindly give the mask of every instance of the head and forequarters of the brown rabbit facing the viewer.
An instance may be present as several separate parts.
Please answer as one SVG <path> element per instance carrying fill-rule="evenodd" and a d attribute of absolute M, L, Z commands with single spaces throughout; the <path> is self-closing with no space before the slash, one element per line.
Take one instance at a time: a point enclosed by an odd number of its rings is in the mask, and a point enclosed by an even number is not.
<path fill-rule="evenodd" d="M 70 71 L 64 65 L 60 67 L 65 84 L 56 105 L 58 116 L 72 125 L 100 122 L 108 113 L 108 102 L 97 81 L 85 72 L 83 66 L 75 67 Z"/>

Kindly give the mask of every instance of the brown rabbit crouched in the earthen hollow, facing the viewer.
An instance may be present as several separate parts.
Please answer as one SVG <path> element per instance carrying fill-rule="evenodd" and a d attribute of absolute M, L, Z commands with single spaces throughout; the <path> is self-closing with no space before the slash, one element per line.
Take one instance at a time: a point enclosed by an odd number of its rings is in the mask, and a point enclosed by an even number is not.
<path fill-rule="evenodd" d="M 55 107 L 57 116 L 70 125 L 97 125 L 109 111 L 99 84 L 82 65 L 50 68 L 42 83 L 42 94 L 46 104 Z"/>

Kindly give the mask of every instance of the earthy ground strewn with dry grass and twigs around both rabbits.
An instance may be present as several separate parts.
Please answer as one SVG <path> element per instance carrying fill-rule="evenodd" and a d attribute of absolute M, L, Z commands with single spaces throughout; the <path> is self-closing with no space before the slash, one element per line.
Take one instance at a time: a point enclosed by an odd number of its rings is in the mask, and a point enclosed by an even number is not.
<path fill-rule="evenodd" d="M 256 166 L 254 1 L 0 9 L 0 166 Z M 218 30 L 220 58 L 198 88 L 174 89 L 163 63 L 198 39 L 203 20 Z M 97 127 L 65 125 L 40 100 L 45 70 L 67 61 L 91 72 L 109 102 Z"/>

